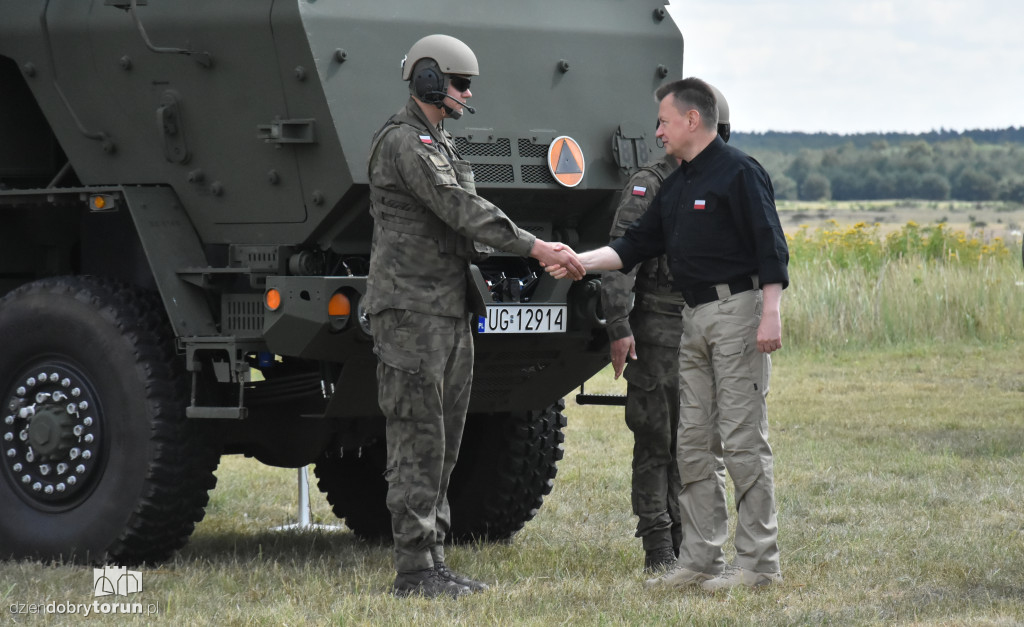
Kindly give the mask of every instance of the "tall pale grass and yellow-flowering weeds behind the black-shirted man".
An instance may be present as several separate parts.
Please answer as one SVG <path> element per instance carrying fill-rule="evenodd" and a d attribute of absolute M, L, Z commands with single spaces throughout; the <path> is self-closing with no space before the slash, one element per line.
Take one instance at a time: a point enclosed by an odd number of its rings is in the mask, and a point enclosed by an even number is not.
<path fill-rule="evenodd" d="M 914 222 L 883 237 L 859 222 L 801 227 L 787 239 L 790 345 L 999 342 L 1024 328 L 1024 270 L 999 238 Z"/>

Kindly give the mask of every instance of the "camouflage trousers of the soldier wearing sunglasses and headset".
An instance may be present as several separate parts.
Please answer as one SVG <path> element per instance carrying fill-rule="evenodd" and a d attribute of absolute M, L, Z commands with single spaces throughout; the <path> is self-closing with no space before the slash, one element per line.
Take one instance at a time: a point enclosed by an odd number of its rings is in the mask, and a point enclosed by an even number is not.
<path fill-rule="evenodd" d="M 473 379 L 469 319 L 385 309 L 371 316 L 378 403 L 387 419 L 387 507 L 399 573 L 444 559 L 449 478 Z"/>

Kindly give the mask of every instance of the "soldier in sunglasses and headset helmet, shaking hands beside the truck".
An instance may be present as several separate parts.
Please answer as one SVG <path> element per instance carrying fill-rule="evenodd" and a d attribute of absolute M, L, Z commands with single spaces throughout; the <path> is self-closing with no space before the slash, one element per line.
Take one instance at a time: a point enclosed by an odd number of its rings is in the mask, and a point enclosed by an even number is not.
<path fill-rule="evenodd" d="M 374 216 L 366 310 L 378 357 L 378 401 L 386 417 L 387 506 L 399 596 L 486 589 L 449 570 L 446 492 L 466 422 L 473 375 L 470 312 L 483 300 L 470 276 L 474 242 L 542 265 L 565 264 L 568 248 L 536 239 L 475 193 L 473 171 L 444 131 L 472 97 L 476 55 L 462 41 L 430 35 L 402 64 L 411 97 L 377 131 L 370 151 Z"/>

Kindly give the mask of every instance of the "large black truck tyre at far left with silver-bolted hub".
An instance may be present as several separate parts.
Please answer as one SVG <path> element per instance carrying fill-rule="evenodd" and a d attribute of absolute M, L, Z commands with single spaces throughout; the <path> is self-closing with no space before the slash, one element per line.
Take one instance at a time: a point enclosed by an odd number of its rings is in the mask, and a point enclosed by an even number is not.
<path fill-rule="evenodd" d="M 218 451 L 185 421 L 159 301 L 54 278 L 0 299 L 0 557 L 166 559 L 202 519 Z"/>

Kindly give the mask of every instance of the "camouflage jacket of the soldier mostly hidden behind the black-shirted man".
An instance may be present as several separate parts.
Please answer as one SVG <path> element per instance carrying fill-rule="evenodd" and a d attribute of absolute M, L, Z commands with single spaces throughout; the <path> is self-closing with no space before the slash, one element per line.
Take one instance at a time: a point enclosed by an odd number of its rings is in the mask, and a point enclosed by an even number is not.
<path fill-rule="evenodd" d="M 667 155 L 665 159 L 640 168 L 630 176 L 611 223 L 612 240 L 626 233 L 630 224 L 647 211 L 662 187 L 662 181 L 676 167 L 676 160 Z M 651 320 L 651 316 L 644 316 L 647 312 L 672 319 L 682 317 L 683 299 L 681 294 L 672 290 L 668 258 L 648 259 L 628 274 L 605 274 L 601 280 L 601 304 L 611 340 L 634 335 L 638 341 L 663 346 L 679 345 L 681 328 L 658 325 Z"/>

